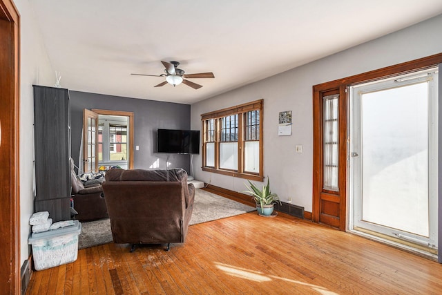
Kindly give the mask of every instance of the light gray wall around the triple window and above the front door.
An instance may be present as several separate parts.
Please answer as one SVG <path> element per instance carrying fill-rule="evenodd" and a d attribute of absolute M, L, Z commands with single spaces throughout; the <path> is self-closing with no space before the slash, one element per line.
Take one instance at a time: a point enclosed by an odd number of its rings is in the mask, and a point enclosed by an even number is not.
<path fill-rule="evenodd" d="M 385 37 L 224 93 L 191 106 L 191 128 L 201 129 L 202 113 L 264 99 L 264 173 L 282 201 L 312 210 L 312 86 L 442 53 L 442 15 Z M 336 41 L 339 41 L 338 36 Z M 253 54 L 253 53 L 251 53 Z M 291 136 L 278 136 L 278 114 L 293 111 Z M 303 153 L 295 153 L 302 144 Z M 217 187 L 244 191 L 244 180 L 202 171 L 201 155 L 193 157 L 194 176 Z"/>

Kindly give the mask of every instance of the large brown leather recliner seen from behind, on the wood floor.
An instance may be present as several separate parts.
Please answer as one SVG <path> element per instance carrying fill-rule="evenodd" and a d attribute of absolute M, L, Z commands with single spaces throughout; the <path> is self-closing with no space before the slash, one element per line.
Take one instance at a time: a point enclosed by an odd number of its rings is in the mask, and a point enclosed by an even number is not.
<path fill-rule="evenodd" d="M 115 243 L 184 242 L 193 211 L 195 187 L 183 169 L 106 172 L 103 183 Z"/>

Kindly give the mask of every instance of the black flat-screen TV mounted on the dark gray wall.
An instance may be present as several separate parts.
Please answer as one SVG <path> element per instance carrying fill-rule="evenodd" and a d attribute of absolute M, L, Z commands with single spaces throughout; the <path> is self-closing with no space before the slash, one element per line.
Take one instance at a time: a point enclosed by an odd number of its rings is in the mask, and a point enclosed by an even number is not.
<path fill-rule="evenodd" d="M 200 153 L 200 131 L 158 129 L 157 152 Z"/>

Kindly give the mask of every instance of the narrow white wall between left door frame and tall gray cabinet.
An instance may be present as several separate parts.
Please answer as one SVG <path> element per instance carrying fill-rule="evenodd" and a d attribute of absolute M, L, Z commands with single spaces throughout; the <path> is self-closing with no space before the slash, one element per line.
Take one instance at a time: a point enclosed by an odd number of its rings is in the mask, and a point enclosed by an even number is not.
<path fill-rule="evenodd" d="M 32 84 L 53 85 L 39 26 L 28 0 L 14 0 L 20 14 L 20 263 L 29 257 L 29 218 L 34 212 L 34 96 Z"/>

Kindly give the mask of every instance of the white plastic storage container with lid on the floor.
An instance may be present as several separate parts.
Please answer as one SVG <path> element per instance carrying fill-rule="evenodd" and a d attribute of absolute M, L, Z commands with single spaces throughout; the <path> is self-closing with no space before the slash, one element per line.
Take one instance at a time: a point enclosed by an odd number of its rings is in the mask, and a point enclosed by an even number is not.
<path fill-rule="evenodd" d="M 78 220 L 69 227 L 33 233 L 28 244 L 32 245 L 35 269 L 43 270 L 77 260 L 79 234 L 81 223 Z"/>

